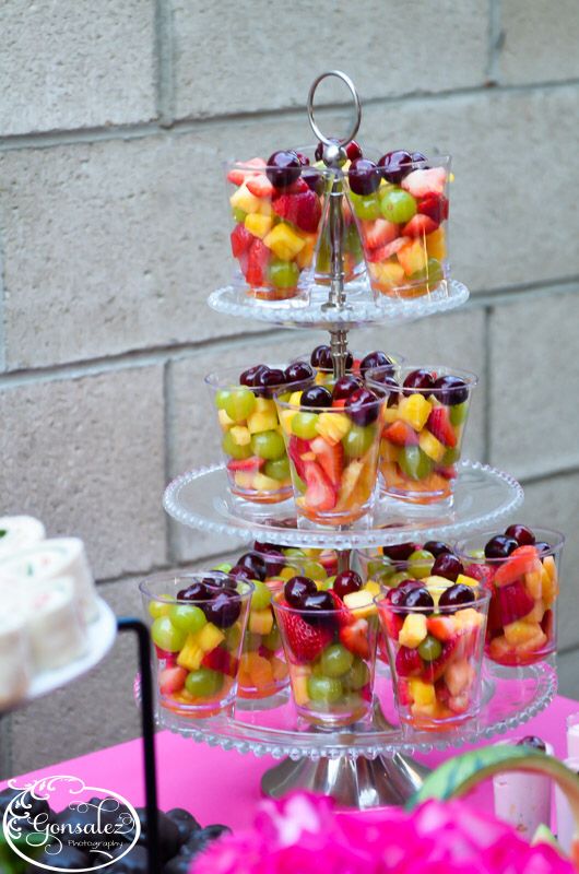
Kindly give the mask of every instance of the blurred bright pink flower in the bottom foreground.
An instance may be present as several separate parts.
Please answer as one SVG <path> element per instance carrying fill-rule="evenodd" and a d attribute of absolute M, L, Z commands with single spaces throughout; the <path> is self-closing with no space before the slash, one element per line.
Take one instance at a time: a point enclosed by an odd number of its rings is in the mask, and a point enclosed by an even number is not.
<path fill-rule="evenodd" d="M 427 801 L 412 813 L 333 811 L 294 793 L 265 801 L 250 831 L 224 837 L 190 874 L 574 874 L 552 847 L 530 847 L 462 801 Z"/>

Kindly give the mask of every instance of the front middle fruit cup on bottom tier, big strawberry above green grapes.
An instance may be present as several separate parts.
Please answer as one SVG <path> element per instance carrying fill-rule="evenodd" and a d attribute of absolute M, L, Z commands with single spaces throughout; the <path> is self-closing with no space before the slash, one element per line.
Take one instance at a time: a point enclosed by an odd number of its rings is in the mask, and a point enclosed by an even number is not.
<path fill-rule="evenodd" d="M 320 592 L 331 603 L 330 592 Z M 371 710 L 378 619 L 361 610 L 297 610 L 273 602 L 296 710 L 310 724 L 351 725 Z"/>

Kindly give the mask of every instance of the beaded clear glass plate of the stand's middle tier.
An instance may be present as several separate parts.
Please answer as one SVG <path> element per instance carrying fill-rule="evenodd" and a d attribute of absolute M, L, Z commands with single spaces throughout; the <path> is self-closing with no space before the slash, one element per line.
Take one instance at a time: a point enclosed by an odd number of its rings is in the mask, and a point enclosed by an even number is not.
<path fill-rule="evenodd" d="M 297 522 L 292 500 L 252 505 L 233 498 L 223 465 L 215 464 L 174 480 L 165 491 L 163 506 L 178 522 L 213 534 L 246 542 L 348 550 L 418 539 L 445 540 L 492 528 L 522 500 L 522 488 L 509 474 L 476 461 L 461 461 L 451 507 L 414 507 L 380 498 L 373 517 L 340 530 Z"/>

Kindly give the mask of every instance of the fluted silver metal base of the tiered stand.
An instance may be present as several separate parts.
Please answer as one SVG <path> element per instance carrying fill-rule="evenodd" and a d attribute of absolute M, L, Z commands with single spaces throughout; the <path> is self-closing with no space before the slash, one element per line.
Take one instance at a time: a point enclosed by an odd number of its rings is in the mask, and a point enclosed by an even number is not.
<path fill-rule="evenodd" d="M 264 795 L 279 799 L 292 790 L 305 789 L 331 795 L 341 806 L 366 811 L 404 804 L 428 773 L 428 768 L 400 753 L 376 759 L 342 756 L 293 761 L 287 758 L 265 771 L 261 790 Z"/>

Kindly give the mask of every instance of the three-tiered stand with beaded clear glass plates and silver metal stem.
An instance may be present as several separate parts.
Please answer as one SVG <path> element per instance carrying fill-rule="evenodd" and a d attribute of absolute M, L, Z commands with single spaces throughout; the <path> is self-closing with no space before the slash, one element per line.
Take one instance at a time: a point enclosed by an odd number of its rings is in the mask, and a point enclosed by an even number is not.
<path fill-rule="evenodd" d="M 327 138 L 314 119 L 314 96 L 326 76 L 338 76 L 350 88 L 355 121 L 350 134 Z M 423 298 L 376 303 L 363 281 L 353 300 L 344 287 L 341 251 L 343 149 L 355 137 L 359 121 L 358 96 L 351 80 L 339 71 L 320 75 L 308 97 L 308 114 L 316 137 L 324 144 L 324 162 L 334 173 L 330 194 L 329 226 L 332 273 L 329 290 L 314 288 L 306 306 L 272 305 L 243 298 L 234 286 L 210 295 L 210 306 L 224 315 L 253 319 L 286 328 L 317 328 L 330 332 L 334 376 L 345 373 L 347 332 L 352 328 L 406 321 L 452 309 L 468 299 L 468 288 L 449 280 L 446 288 Z M 462 461 L 451 506 L 409 507 L 402 501 L 377 499 L 374 515 L 344 528 L 320 528 L 296 519 L 293 503 L 269 505 L 267 516 L 246 512 L 227 488 L 224 466 L 215 464 L 190 471 L 169 484 L 166 511 L 178 522 L 214 534 L 285 546 L 338 551 L 340 568 L 347 567 L 352 548 L 392 545 L 406 541 L 445 540 L 495 525 L 523 499 L 520 485 L 506 473 L 478 462 Z M 556 672 L 546 662 L 518 669 L 513 678 L 484 677 L 481 714 L 460 728 L 441 733 L 409 731 L 400 727 L 388 675 L 377 680 L 377 700 L 371 724 L 333 731 L 299 724 L 290 698 L 268 708 L 263 701 L 234 708 L 205 720 L 188 719 L 159 708 L 163 728 L 196 741 L 239 753 L 284 759 L 265 772 L 262 789 L 279 796 L 297 787 L 333 795 L 348 806 L 368 808 L 405 801 L 420 788 L 424 768 L 412 753 L 444 749 L 492 737 L 529 720 L 544 709 L 556 692 Z"/>

